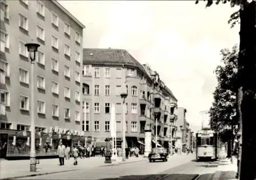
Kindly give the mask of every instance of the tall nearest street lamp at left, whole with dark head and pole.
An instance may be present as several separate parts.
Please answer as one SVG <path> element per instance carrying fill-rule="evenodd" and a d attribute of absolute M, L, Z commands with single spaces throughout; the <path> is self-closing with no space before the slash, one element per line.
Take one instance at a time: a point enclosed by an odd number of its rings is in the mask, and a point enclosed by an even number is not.
<path fill-rule="evenodd" d="M 34 113 L 34 61 L 35 53 L 40 46 L 37 43 L 27 43 L 25 46 L 28 48 L 29 57 L 31 60 L 31 100 L 30 100 L 30 110 L 31 110 L 31 145 L 30 145 L 30 172 L 36 172 L 36 154 L 35 154 L 35 113 Z"/>

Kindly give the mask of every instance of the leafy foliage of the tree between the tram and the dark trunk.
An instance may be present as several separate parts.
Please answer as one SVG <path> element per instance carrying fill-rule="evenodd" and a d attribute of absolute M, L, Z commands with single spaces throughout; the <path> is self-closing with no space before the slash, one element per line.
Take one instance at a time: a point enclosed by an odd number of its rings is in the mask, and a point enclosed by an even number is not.
<path fill-rule="evenodd" d="M 237 73 L 238 73 L 238 47 L 221 50 L 221 63 L 215 74 L 218 81 L 214 92 L 214 102 L 210 107 L 210 124 L 225 136 L 230 131 L 230 125 L 238 124 L 237 114 Z M 224 141 L 225 137 L 223 137 Z"/>

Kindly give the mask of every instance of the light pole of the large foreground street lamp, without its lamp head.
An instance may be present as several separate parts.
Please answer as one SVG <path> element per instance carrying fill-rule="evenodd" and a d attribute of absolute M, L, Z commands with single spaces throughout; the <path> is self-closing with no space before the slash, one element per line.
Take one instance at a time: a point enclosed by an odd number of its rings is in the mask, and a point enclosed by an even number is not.
<path fill-rule="evenodd" d="M 34 102 L 34 61 L 31 60 L 31 100 L 30 100 L 30 110 L 31 110 L 31 147 L 30 147 L 30 172 L 36 172 L 36 160 L 35 160 L 35 102 Z"/>

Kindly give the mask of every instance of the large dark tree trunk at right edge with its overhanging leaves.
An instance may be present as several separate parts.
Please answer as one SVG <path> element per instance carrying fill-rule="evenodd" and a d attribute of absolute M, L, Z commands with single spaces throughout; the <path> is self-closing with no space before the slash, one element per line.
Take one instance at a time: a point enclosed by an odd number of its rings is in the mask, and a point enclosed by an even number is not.
<path fill-rule="evenodd" d="M 213 4 L 207 1 L 206 7 Z M 199 1 L 196 1 L 196 4 Z M 240 46 L 238 58 L 237 109 L 239 117 L 238 177 L 241 180 L 256 178 L 256 2 L 247 0 L 217 0 L 216 4 L 230 2 L 240 6 L 229 19 L 232 25 L 240 20 Z"/>

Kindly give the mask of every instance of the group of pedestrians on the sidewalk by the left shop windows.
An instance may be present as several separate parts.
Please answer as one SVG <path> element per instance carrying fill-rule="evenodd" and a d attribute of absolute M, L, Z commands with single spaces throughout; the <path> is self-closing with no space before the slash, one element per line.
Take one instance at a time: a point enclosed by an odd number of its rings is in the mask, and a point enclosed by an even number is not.
<path fill-rule="evenodd" d="M 62 144 L 62 142 L 59 143 L 57 155 L 59 156 L 59 165 L 64 165 L 64 160 L 66 157 L 66 160 L 70 159 L 70 156 L 74 157 L 74 165 L 77 165 L 77 159 L 80 157 L 83 158 L 90 158 L 90 156 L 95 156 L 96 149 L 94 146 L 81 146 L 78 144 L 75 144 L 71 150 L 71 147 L 67 145 Z M 104 155 L 104 147 L 101 147 L 101 155 Z"/>

